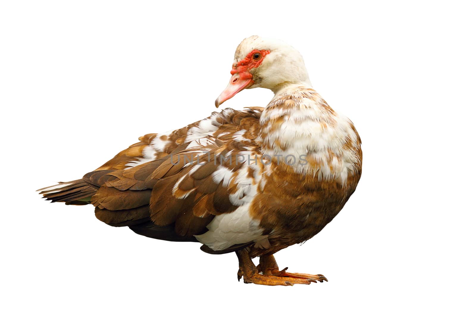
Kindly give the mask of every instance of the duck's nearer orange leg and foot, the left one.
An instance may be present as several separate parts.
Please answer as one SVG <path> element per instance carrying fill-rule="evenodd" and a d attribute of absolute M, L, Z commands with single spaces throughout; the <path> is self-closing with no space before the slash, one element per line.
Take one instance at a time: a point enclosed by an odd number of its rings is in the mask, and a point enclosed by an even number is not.
<path fill-rule="evenodd" d="M 316 282 L 311 278 L 294 278 L 288 276 L 276 276 L 273 274 L 259 274 L 259 271 L 251 258 L 249 252 L 246 249 L 236 251 L 238 256 L 239 270 L 238 281 L 243 277 L 245 283 L 254 283 L 260 285 L 294 285 L 294 284 L 311 284 Z M 274 259 L 274 258 L 273 258 Z M 276 262 L 275 262 L 276 263 Z"/>

